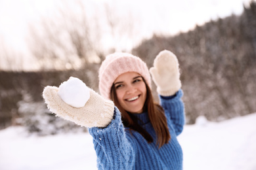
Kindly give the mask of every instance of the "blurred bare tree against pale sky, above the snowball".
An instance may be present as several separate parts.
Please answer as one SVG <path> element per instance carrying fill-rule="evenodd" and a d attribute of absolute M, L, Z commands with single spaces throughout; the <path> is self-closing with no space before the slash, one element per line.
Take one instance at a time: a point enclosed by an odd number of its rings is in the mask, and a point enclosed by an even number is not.
<path fill-rule="evenodd" d="M 30 50 L 41 69 L 80 69 L 101 56 L 100 31 L 93 27 L 98 21 L 90 22 L 83 3 L 76 2 L 76 10 L 64 3 L 58 15 L 30 25 Z"/>

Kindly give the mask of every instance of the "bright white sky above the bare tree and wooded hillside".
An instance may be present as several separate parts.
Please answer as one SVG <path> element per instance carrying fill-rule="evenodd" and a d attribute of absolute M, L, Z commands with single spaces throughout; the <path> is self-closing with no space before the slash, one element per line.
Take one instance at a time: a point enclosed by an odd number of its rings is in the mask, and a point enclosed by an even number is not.
<path fill-rule="evenodd" d="M 104 44 L 113 44 L 117 46 L 117 49 L 131 49 L 141 39 L 150 38 L 153 33 L 174 35 L 180 31 L 193 29 L 196 24 L 202 25 L 211 19 L 224 18 L 232 13 L 241 14 L 243 3 L 247 5 L 249 1 L 84 0 L 83 3 L 87 7 L 87 12 L 92 14 L 104 15 L 102 6 L 108 3 L 112 12 L 119 18 L 133 18 L 134 22 L 128 24 L 135 27 L 135 36 L 124 39 L 117 38 L 115 42 L 106 34 L 102 39 Z M 76 10 L 77 0 L 0 0 L 0 46 L 29 55 L 27 40 L 30 31 L 28 25 L 36 25 L 41 18 L 51 18 L 58 14 L 58 8 L 65 4 L 63 2 L 68 4 L 71 10 Z M 104 17 L 100 16 L 100 18 Z M 127 21 L 124 19 L 122 22 Z"/>

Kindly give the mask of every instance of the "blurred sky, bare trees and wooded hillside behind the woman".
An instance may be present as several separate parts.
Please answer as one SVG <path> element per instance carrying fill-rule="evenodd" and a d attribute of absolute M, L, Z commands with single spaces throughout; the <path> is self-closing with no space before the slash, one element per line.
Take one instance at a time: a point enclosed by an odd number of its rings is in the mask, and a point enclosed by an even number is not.
<path fill-rule="evenodd" d="M 0 129 L 86 131 L 49 114 L 43 88 L 77 76 L 98 92 L 107 54 L 152 67 L 164 49 L 179 59 L 187 124 L 256 111 L 255 1 L 0 1 Z"/>

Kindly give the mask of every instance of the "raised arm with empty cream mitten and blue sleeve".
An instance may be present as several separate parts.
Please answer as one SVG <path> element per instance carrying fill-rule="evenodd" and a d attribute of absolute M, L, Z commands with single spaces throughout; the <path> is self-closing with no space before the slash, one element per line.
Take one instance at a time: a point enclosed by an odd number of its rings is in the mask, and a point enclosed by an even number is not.
<path fill-rule="evenodd" d="M 160 104 L 165 109 L 165 115 L 171 119 L 177 135 L 184 126 L 184 103 L 181 100 L 181 80 L 179 61 L 175 54 L 163 50 L 154 59 L 154 67 L 150 68 L 152 79 L 160 95 Z"/>

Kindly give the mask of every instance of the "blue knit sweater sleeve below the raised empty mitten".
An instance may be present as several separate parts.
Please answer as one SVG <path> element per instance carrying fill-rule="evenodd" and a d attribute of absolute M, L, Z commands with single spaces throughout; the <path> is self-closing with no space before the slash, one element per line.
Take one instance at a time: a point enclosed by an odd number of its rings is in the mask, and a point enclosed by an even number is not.
<path fill-rule="evenodd" d="M 181 89 L 173 96 L 164 97 L 160 95 L 160 104 L 165 110 L 167 119 L 171 120 L 176 135 L 181 134 L 185 122 L 182 96 L 183 92 Z"/>

